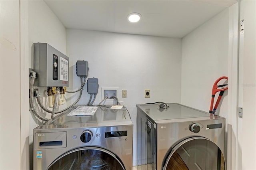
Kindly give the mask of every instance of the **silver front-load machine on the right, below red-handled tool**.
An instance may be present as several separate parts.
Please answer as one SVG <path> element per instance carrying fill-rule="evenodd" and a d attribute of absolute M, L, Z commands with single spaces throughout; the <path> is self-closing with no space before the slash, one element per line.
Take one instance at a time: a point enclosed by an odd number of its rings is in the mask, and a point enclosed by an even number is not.
<path fill-rule="evenodd" d="M 178 103 L 136 107 L 139 169 L 225 169 L 225 118 Z"/>

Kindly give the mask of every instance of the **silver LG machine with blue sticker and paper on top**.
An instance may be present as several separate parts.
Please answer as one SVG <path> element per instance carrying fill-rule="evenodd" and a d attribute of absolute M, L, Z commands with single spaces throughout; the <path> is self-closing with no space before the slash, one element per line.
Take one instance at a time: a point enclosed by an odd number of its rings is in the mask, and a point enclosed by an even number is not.
<path fill-rule="evenodd" d="M 34 128 L 34 170 L 132 170 L 128 111 L 98 107 L 93 116 L 67 116 L 73 109 Z"/>

